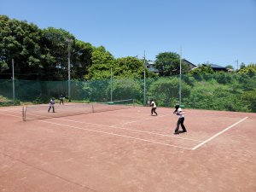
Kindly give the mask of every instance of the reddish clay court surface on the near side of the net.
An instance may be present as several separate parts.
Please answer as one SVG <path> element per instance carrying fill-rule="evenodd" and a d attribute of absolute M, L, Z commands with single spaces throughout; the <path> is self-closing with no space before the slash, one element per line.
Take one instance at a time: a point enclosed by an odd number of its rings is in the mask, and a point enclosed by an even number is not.
<path fill-rule="evenodd" d="M 57 109 L 56 109 L 57 110 Z M 136 107 L 22 121 L 0 108 L 0 190 L 256 191 L 256 113 Z"/>

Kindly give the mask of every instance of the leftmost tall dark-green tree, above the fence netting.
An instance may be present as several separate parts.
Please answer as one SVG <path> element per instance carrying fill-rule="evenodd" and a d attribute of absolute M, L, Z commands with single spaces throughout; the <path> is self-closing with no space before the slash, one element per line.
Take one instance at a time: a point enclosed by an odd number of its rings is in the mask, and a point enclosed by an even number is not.
<path fill-rule="evenodd" d="M 16 79 L 38 79 L 38 73 L 44 68 L 44 63 L 41 62 L 42 31 L 34 24 L 10 20 L 4 15 L 0 15 L 0 23 L 2 78 L 11 77 L 11 60 L 14 59 Z"/>

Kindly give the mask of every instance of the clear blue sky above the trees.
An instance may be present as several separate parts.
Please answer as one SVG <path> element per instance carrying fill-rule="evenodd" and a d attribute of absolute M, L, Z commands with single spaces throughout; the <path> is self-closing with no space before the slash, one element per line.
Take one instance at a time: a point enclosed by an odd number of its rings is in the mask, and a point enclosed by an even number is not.
<path fill-rule="evenodd" d="M 0 15 L 62 28 L 115 58 L 175 52 L 195 65 L 256 63 L 256 0 L 0 0 Z"/>

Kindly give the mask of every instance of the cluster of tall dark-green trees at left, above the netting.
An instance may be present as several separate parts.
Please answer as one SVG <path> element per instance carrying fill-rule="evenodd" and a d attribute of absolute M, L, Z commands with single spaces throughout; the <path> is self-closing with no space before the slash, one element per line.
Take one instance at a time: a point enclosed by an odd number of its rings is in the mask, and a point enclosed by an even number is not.
<path fill-rule="evenodd" d="M 26 21 L 11 20 L 0 15 L 0 73 L 2 79 L 12 74 L 15 61 L 16 79 L 63 80 L 67 79 L 67 39 L 71 43 L 72 79 L 84 79 L 91 66 L 90 44 L 79 41 L 63 29 L 38 26 Z"/>

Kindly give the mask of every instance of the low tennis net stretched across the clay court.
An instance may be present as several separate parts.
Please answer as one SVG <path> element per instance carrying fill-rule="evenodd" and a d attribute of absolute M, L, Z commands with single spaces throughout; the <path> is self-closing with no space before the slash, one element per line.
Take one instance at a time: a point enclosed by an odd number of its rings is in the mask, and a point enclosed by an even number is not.
<path fill-rule="evenodd" d="M 33 119 L 49 119 L 73 116 L 86 113 L 99 113 L 105 111 L 133 108 L 134 100 L 121 100 L 113 102 L 93 102 L 93 103 L 65 103 L 65 105 L 55 104 L 55 113 L 53 109 L 48 112 L 49 105 L 24 106 L 22 108 L 22 118 L 24 121 Z"/>

